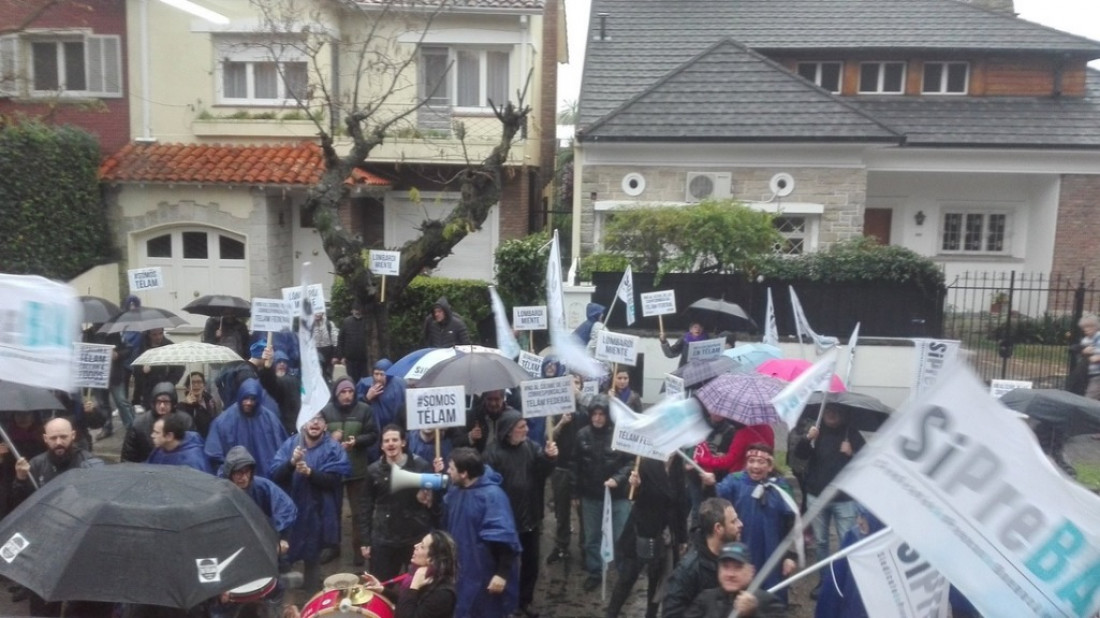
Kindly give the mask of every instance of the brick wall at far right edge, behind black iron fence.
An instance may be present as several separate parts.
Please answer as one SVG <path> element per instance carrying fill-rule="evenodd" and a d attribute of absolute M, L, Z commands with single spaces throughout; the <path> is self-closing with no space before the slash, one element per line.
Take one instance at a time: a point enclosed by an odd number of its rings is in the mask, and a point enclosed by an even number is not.
<path fill-rule="evenodd" d="M 1054 235 L 1053 275 L 1074 280 L 1085 269 L 1085 280 L 1100 278 L 1100 254 L 1094 234 L 1100 207 L 1100 175 L 1065 175 L 1058 196 L 1058 221 Z"/>

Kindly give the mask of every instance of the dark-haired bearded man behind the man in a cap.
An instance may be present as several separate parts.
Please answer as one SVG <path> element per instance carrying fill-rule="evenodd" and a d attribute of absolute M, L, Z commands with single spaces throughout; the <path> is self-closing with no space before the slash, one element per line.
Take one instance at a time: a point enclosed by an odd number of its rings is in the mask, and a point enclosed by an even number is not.
<path fill-rule="evenodd" d="M 698 525 L 704 537 L 696 540 L 672 571 L 661 611 L 663 618 L 682 618 L 700 593 L 718 585 L 718 553 L 723 545 L 741 538 L 741 520 L 725 498 L 703 500 L 698 506 Z"/>

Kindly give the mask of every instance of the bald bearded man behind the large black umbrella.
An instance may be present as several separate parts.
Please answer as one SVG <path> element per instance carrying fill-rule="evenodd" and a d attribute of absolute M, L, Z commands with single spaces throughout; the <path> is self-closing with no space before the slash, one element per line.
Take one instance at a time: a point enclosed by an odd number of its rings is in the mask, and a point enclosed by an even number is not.
<path fill-rule="evenodd" d="M 31 457 L 31 461 L 20 457 L 15 462 L 15 481 L 11 487 L 12 508 L 33 494 L 35 487 L 42 487 L 64 472 L 103 465 L 103 460 L 76 445 L 76 431 L 68 419 L 57 418 L 47 422 L 43 440 L 46 442 L 44 453 Z M 61 609 L 61 603 L 47 604 L 38 595 L 31 595 L 32 616 L 57 616 Z"/>

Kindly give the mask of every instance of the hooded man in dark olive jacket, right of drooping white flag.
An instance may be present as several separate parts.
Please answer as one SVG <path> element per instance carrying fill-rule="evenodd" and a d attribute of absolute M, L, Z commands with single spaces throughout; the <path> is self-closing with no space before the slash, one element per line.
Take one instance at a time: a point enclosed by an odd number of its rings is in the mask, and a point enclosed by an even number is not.
<path fill-rule="evenodd" d="M 355 383 L 349 377 L 341 377 L 332 387 L 332 400 L 321 408 L 321 416 L 328 424 L 332 439 L 340 444 L 348 453 L 351 464 L 351 473 L 344 479 L 344 492 L 348 495 L 348 506 L 352 512 L 355 511 L 363 493 L 363 484 L 366 479 L 366 467 L 371 464 L 371 446 L 378 441 L 378 426 L 374 422 L 374 412 L 371 407 L 355 398 Z M 362 547 L 360 540 L 359 518 L 351 520 L 351 552 L 352 564 L 363 565 L 363 555 L 359 548 Z M 331 560 L 339 554 L 340 547 L 326 552 L 326 560 Z"/>

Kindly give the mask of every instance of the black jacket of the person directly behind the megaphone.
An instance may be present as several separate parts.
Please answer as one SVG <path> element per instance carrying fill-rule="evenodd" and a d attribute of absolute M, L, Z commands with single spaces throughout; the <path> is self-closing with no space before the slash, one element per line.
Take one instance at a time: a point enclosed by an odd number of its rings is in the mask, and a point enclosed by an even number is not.
<path fill-rule="evenodd" d="M 430 473 L 431 464 L 410 454 L 402 470 L 416 474 Z M 442 504 L 442 500 L 435 500 L 433 512 L 417 500 L 419 489 L 416 487 L 391 492 L 392 473 L 393 466 L 385 457 L 366 468 L 366 483 L 355 511 L 360 538 L 366 547 L 415 545 L 432 529 Z"/>

